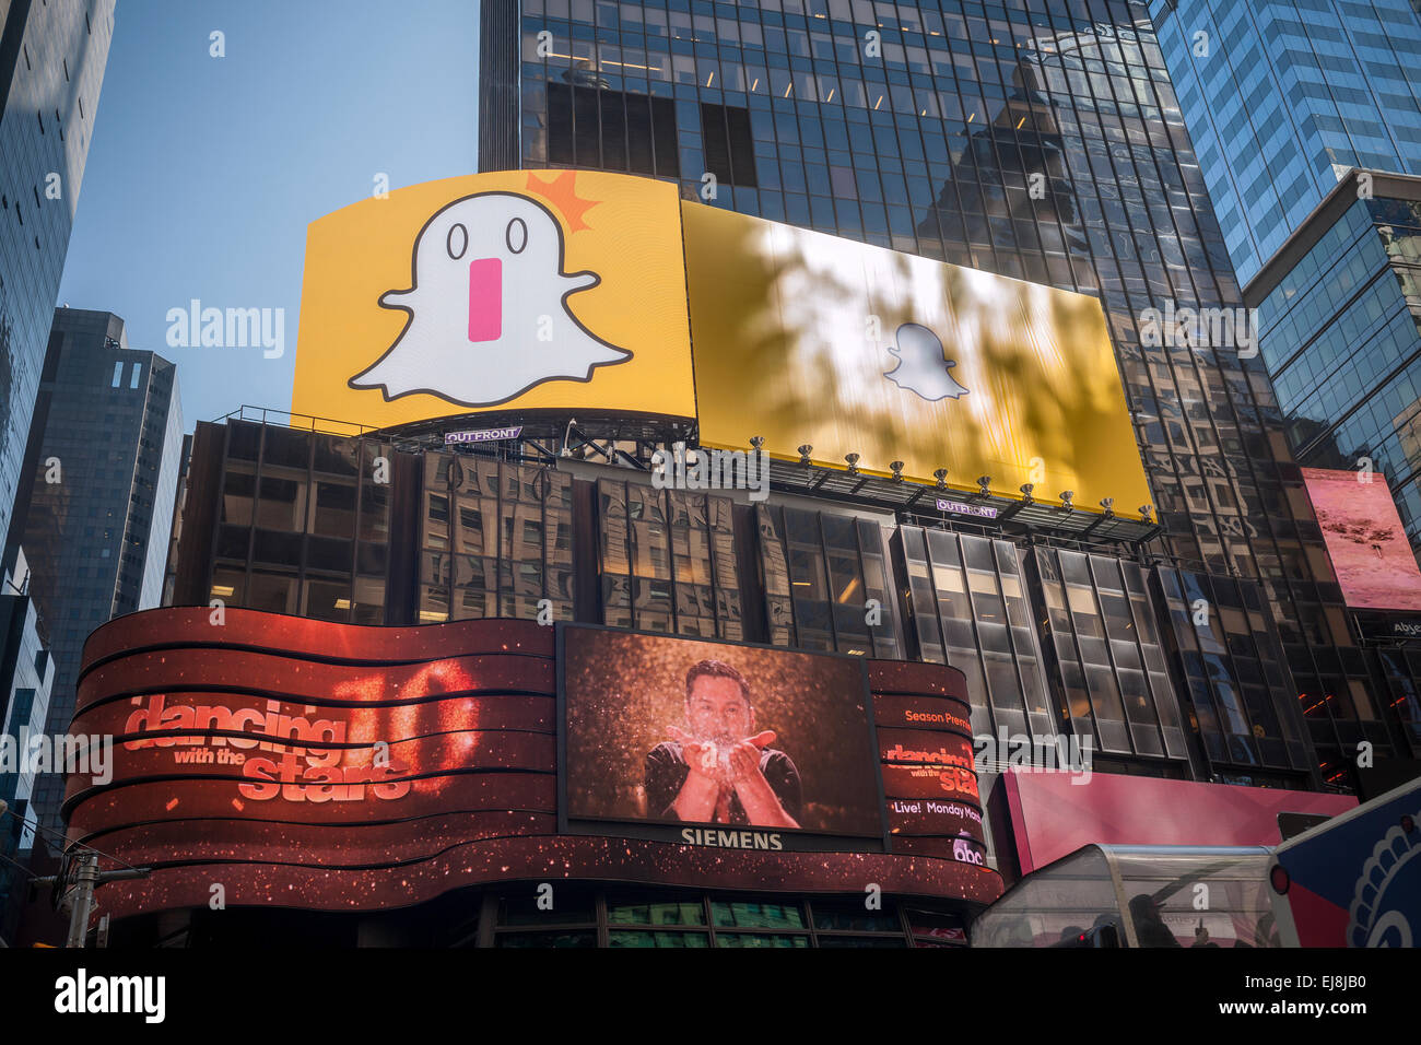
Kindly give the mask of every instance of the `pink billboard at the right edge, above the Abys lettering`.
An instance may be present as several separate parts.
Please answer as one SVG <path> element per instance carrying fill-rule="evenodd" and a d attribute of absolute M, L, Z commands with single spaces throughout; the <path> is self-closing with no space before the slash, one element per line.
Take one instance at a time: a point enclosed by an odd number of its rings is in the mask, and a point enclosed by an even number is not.
<path fill-rule="evenodd" d="M 1421 610 L 1421 570 L 1385 479 L 1303 468 L 1343 599 L 1354 610 Z"/>

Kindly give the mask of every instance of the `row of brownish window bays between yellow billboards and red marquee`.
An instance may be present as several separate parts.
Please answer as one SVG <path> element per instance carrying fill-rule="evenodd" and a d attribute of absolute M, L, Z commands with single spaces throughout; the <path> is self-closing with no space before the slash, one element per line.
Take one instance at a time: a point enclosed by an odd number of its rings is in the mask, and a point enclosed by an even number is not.
<path fill-rule="evenodd" d="M 1110 543 L 1017 543 L 830 496 L 658 491 L 625 466 L 509 449 L 242 421 L 199 425 L 195 448 L 179 603 L 368 624 L 543 616 L 946 663 L 968 677 L 979 736 L 1090 738 L 1107 772 L 1201 779 L 1242 763 L 1255 768 L 1241 776 L 1302 783 L 1263 769 L 1306 762 L 1306 746 L 1277 709 L 1258 584 L 1151 567 Z M 369 479 L 382 458 L 389 483 Z M 341 495 L 325 489 L 337 473 Z M 358 519 L 328 515 L 357 502 Z M 323 549 L 342 539 L 337 576 Z"/>

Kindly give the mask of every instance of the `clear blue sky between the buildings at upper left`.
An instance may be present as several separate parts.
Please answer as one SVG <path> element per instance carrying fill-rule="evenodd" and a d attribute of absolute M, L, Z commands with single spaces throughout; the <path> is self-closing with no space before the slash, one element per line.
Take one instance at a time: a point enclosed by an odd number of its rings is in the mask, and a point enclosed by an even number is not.
<path fill-rule="evenodd" d="M 377 173 L 396 189 L 477 169 L 477 3 L 118 0 L 114 23 L 58 300 L 178 364 L 188 431 L 286 409 L 307 223 Z M 168 310 L 192 299 L 284 309 L 284 355 L 169 347 Z"/>

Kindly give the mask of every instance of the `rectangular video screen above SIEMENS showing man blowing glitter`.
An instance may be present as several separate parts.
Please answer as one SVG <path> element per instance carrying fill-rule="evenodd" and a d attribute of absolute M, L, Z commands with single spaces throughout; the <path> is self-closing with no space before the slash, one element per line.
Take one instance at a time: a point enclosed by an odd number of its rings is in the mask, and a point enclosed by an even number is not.
<path fill-rule="evenodd" d="M 561 641 L 568 820 L 759 829 L 770 847 L 882 836 L 861 660 L 591 627 Z"/>

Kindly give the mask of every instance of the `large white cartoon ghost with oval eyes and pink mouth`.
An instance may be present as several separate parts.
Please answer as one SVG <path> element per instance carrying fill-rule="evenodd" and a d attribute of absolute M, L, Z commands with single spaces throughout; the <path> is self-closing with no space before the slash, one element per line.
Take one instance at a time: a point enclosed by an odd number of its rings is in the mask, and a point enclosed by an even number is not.
<path fill-rule="evenodd" d="M 409 321 L 348 384 L 381 388 L 387 401 L 428 392 L 492 407 L 544 381 L 590 381 L 595 367 L 632 357 L 567 309 L 600 282 L 563 272 L 563 227 L 541 203 L 512 192 L 456 199 L 415 237 L 409 290 L 379 299 Z"/>

